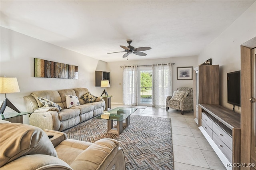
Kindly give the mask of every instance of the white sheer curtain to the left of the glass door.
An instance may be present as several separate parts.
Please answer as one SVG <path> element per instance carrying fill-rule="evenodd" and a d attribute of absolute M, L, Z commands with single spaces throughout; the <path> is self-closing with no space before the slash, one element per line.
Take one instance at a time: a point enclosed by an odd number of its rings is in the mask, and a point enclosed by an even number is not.
<path fill-rule="evenodd" d="M 123 66 L 123 103 L 124 105 L 138 105 L 137 65 Z"/>

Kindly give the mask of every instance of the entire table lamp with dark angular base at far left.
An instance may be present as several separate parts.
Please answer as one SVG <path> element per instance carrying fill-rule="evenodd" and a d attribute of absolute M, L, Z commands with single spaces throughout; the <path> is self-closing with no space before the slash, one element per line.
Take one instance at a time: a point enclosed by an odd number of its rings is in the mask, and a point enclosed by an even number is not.
<path fill-rule="evenodd" d="M 18 81 L 16 77 L 0 77 L 0 93 L 5 93 L 5 99 L 0 107 L 0 114 L 4 113 L 6 106 L 10 107 L 14 111 L 20 113 L 20 111 L 10 102 L 6 97 L 6 93 L 20 92 Z"/>

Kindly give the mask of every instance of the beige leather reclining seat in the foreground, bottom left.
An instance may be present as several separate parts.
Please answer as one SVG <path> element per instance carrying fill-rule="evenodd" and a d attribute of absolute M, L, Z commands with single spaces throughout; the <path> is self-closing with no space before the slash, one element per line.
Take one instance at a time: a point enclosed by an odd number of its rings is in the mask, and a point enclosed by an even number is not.
<path fill-rule="evenodd" d="M 114 139 L 72 140 L 63 132 L 7 121 L 0 121 L 0 134 L 1 170 L 125 170 L 123 149 Z"/>

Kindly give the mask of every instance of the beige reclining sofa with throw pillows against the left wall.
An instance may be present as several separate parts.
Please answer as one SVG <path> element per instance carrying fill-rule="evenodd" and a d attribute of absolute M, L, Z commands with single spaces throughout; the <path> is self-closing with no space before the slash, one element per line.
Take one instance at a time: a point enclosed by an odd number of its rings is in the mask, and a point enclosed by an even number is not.
<path fill-rule="evenodd" d="M 63 131 L 92 117 L 100 115 L 105 109 L 105 101 L 101 98 L 93 103 L 86 103 L 82 99 L 86 93 L 86 88 L 64 89 L 59 91 L 43 90 L 35 91 L 24 97 L 26 109 L 32 114 L 29 117 L 30 125 L 49 130 Z M 80 105 L 67 109 L 66 95 L 77 96 Z M 56 104 L 58 107 L 45 107 L 40 103 L 38 97 L 43 97 Z"/>

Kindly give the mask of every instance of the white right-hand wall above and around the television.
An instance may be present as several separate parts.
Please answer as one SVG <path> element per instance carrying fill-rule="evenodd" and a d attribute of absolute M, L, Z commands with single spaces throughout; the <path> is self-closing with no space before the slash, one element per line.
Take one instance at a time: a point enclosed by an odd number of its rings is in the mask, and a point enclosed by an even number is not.
<path fill-rule="evenodd" d="M 220 66 L 220 105 L 228 109 L 233 105 L 227 103 L 227 73 L 241 69 L 240 45 L 255 36 L 256 2 L 198 55 L 198 63 L 212 58 Z M 240 108 L 235 111 L 240 113 Z"/>

